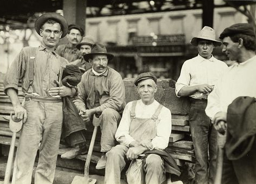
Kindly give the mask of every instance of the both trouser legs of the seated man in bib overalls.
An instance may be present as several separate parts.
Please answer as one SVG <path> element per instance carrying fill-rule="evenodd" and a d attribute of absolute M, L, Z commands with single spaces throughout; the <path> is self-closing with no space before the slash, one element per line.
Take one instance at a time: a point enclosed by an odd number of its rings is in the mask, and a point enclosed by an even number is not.
<path fill-rule="evenodd" d="M 120 184 L 121 171 L 126 166 L 128 147 L 118 144 L 106 154 L 105 184 Z M 160 184 L 166 180 L 164 162 L 159 155 L 150 154 L 146 157 L 145 183 Z"/>

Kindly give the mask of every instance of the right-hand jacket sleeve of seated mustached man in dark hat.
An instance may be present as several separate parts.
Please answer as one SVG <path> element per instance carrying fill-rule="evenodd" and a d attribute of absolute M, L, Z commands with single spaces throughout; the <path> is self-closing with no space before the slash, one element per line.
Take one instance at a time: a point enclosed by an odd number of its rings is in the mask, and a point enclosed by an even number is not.
<path fill-rule="evenodd" d="M 110 80 L 109 100 L 96 108 L 97 113 L 101 113 L 104 109 L 111 108 L 121 110 L 124 106 L 125 90 L 121 75 L 113 75 Z"/>

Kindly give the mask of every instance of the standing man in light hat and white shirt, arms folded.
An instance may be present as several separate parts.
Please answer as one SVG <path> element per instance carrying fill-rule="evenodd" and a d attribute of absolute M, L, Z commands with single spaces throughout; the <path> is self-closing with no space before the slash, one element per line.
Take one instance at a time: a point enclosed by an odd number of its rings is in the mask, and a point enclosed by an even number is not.
<path fill-rule="evenodd" d="M 178 97 L 189 96 L 191 101 L 189 123 L 196 155 L 195 181 L 198 184 L 213 183 L 217 132 L 204 110 L 207 106 L 207 96 L 228 67 L 211 54 L 215 47 L 221 45 L 221 42 L 215 40 L 213 28 L 204 27 L 197 37 L 192 38 L 191 44 L 197 47 L 199 54 L 184 62 L 176 83 L 176 94 Z"/>

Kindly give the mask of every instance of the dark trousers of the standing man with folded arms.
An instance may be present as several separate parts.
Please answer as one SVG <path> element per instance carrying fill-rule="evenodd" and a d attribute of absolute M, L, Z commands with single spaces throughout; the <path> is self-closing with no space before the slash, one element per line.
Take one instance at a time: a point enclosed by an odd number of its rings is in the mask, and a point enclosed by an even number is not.
<path fill-rule="evenodd" d="M 206 106 L 207 101 L 192 101 L 189 115 L 190 130 L 196 156 L 196 184 L 213 183 L 216 169 L 217 131 L 209 117 L 205 114 Z"/>

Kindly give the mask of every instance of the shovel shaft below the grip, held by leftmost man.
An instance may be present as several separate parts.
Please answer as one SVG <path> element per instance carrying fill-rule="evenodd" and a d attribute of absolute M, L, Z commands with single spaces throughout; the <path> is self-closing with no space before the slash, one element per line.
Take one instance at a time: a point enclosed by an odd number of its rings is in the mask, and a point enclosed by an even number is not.
<path fill-rule="evenodd" d="M 16 140 L 16 132 L 14 132 L 13 136 L 11 137 L 11 146 L 9 150 L 7 166 L 5 169 L 4 184 L 8 184 L 10 181 L 11 166 L 13 165 L 13 157 L 14 157 L 15 140 Z"/>

